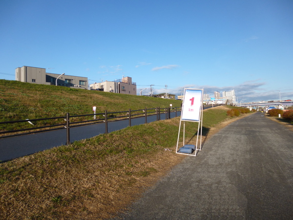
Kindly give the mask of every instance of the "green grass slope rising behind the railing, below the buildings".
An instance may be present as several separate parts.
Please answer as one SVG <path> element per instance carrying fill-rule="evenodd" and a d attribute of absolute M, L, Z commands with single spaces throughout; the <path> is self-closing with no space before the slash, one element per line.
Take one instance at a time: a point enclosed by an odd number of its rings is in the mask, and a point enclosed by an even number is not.
<path fill-rule="evenodd" d="M 181 106 L 180 100 L 0 80 L 0 121 Z"/>

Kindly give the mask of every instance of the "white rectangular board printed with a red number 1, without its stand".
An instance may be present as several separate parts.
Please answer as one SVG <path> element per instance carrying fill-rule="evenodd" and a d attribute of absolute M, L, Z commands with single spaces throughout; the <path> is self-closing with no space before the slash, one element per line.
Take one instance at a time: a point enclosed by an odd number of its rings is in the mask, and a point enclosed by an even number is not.
<path fill-rule="evenodd" d="M 203 89 L 185 89 L 181 120 L 200 121 Z"/>

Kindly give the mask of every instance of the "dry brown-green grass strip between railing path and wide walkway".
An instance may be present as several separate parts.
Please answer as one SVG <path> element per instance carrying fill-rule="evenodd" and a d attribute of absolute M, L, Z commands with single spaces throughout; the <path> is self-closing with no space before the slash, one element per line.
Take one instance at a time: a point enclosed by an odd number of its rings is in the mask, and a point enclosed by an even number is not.
<path fill-rule="evenodd" d="M 204 111 L 206 133 L 230 118 L 226 108 Z M 0 219 L 113 216 L 185 157 L 175 154 L 179 120 L 128 127 L 1 163 Z M 196 130 L 197 123 L 186 122 L 186 140 Z"/>

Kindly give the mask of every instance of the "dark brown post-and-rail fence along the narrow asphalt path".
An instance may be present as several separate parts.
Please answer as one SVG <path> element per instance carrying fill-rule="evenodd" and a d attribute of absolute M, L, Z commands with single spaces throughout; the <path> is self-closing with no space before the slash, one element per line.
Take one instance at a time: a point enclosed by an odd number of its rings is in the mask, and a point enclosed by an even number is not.
<path fill-rule="evenodd" d="M 156 120 L 161 120 L 161 114 L 165 114 L 165 119 L 170 118 L 170 112 L 175 112 L 175 117 L 177 117 L 177 111 L 180 111 L 181 107 L 174 108 L 154 108 L 154 109 L 142 109 L 142 110 L 127 110 L 127 111 L 116 111 L 108 112 L 105 110 L 104 113 L 94 113 L 94 114 L 83 114 L 83 115 L 70 115 L 66 113 L 65 116 L 60 117 L 51 117 L 51 118 L 40 118 L 40 119 L 25 119 L 18 121 L 6 121 L 0 122 L 0 138 L 19 136 L 23 134 L 37 133 L 37 132 L 47 132 L 60 129 L 66 129 L 67 134 L 67 144 L 70 143 L 70 128 L 79 127 L 84 125 L 90 125 L 95 123 L 105 123 L 105 133 L 108 133 L 108 122 L 110 121 L 120 121 L 120 120 L 129 120 L 129 126 L 131 126 L 131 119 L 138 117 L 145 117 L 145 123 L 147 123 L 147 116 L 157 115 Z M 92 118 L 93 119 L 89 119 Z M 51 121 L 48 123 L 48 121 Z M 55 122 L 54 122 L 55 121 Z M 29 128 L 23 128 L 26 126 L 17 125 L 14 126 L 13 130 L 5 131 L 6 127 L 11 124 L 18 123 L 28 123 Z M 35 124 L 34 124 L 35 123 Z M 42 126 L 38 125 L 42 124 Z M 50 125 L 46 125 L 50 124 Z M 22 127 L 22 128 L 21 128 Z M 21 128 L 21 129 L 17 129 Z"/>

